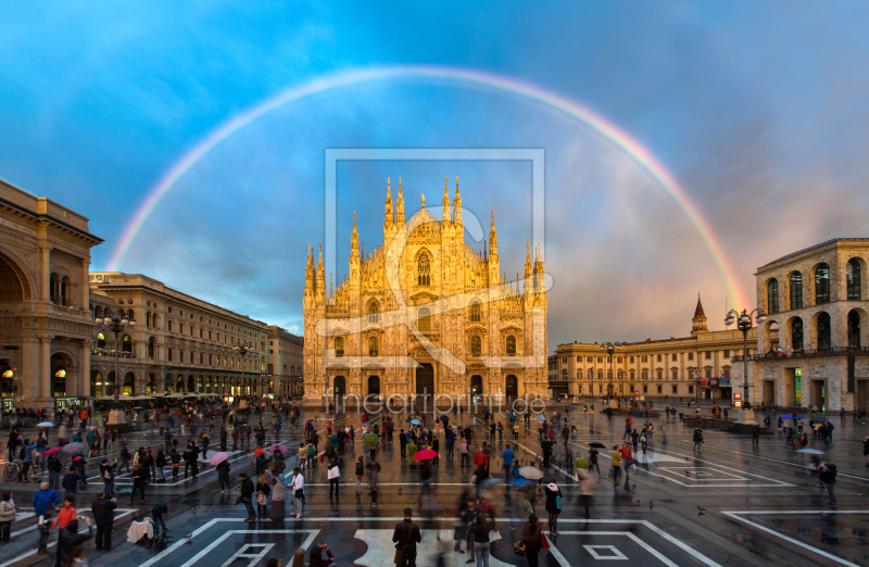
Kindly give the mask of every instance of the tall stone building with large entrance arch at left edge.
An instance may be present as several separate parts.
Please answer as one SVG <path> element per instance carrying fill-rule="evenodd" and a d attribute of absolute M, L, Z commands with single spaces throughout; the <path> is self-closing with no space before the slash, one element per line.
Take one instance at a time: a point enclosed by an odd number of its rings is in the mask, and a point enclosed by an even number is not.
<path fill-rule="evenodd" d="M 87 391 L 93 319 L 88 219 L 0 181 L 0 393 L 51 407 Z"/>

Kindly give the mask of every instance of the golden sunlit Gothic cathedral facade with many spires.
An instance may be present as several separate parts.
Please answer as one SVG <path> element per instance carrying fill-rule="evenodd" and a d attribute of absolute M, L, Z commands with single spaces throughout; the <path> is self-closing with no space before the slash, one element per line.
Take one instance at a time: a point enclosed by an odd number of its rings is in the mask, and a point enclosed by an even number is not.
<path fill-rule="evenodd" d="M 492 213 L 488 248 L 465 242 L 462 198 L 444 179 L 441 219 L 425 205 L 404 218 L 387 181 L 383 243 L 362 252 L 355 213 L 349 275 L 326 288 L 308 247 L 304 291 L 305 403 L 344 396 L 547 398 L 543 261 L 525 277 L 500 270 Z"/>

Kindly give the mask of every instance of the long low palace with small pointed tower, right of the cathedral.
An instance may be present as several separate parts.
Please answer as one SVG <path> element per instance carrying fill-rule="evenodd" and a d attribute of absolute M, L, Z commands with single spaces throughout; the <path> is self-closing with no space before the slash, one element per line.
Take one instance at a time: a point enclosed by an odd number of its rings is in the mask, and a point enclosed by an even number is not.
<path fill-rule="evenodd" d="M 723 319 L 723 317 L 722 317 Z M 732 357 L 742 354 L 738 330 L 710 331 L 700 297 L 689 337 L 624 343 L 612 356 L 599 343 L 572 342 L 555 350 L 568 395 L 700 398 L 728 401 Z M 756 344 L 753 329 L 748 351 Z"/>

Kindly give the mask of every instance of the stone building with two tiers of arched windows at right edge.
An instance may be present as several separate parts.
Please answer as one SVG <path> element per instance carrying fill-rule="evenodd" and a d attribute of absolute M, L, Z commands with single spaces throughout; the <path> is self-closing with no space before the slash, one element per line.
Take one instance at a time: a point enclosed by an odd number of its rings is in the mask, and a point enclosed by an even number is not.
<path fill-rule="evenodd" d="M 757 304 L 767 320 L 750 356 L 755 404 L 867 407 L 867 261 L 869 239 L 837 238 L 757 269 Z"/>

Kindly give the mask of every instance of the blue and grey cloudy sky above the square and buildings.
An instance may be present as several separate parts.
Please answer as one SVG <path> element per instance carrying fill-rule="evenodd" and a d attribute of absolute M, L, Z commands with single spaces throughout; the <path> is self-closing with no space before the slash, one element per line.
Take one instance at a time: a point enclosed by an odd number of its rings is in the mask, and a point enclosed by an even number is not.
<path fill-rule="evenodd" d="M 245 109 L 327 73 L 463 67 L 628 131 L 685 187 L 753 297 L 757 266 L 867 236 L 867 16 L 865 2 L 5 3 L 0 178 L 88 216 L 101 269 L 149 190 Z M 299 330 L 323 152 L 348 147 L 543 148 L 552 349 L 683 336 L 697 291 L 713 328 L 733 306 L 629 156 L 528 101 L 449 81 L 374 81 L 268 113 L 179 180 L 121 268 Z M 339 275 L 353 211 L 366 249 L 378 243 L 388 176 L 405 179 L 408 209 L 423 191 L 439 206 L 458 176 L 466 207 L 483 220 L 495 209 L 504 270 L 521 269 L 527 164 L 378 162 L 339 168 Z"/>

